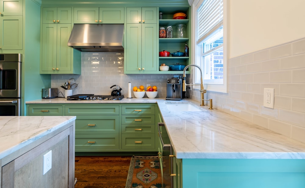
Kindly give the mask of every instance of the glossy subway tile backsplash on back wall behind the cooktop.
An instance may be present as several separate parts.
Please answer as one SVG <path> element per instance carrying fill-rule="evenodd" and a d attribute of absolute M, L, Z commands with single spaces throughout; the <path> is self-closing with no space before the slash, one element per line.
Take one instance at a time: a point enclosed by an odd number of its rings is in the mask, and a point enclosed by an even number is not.
<path fill-rule="evenodd" d="M 97 63 L 99 64 L 93 64 Z M 166 97 L 166 80 L 172 78 L 172 74 L 124 74 L 124 54 L 116 52 L 82 52 L 81 53 L 81 75 L 53 74 L 51 87 L 58 88 L 64 93 L 60 86 L 69 78 L 75 78 L 78 87 L 73 90 L 76 94 L 110 95 L 112 85 L 119 85 L 123 90 L 122 95 L 128 96 L 128 82 L 131 86 L 156 85 L 158 87 L 157 97 Z M 60 97 L 63 97 L 61 93 Z M 135 97 L 133 92 L 131 96 Z M 146 95 L 145 95 L 146 97 Z"/>

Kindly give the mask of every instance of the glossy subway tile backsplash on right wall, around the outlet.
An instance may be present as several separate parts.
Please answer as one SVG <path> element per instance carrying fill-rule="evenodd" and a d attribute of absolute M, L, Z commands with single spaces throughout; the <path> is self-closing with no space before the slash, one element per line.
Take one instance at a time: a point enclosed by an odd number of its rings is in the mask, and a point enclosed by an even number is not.
<path fill-rule="evenodd" d="M 216 109 L 305 142 L 305 39 L 230 59 L 228 67 L 228 93 L 205 95 Z M 274 109 L 263 106 L 264 88 L 274 88 Z M 190 98 L 199 101 L 198 90 Z"/>

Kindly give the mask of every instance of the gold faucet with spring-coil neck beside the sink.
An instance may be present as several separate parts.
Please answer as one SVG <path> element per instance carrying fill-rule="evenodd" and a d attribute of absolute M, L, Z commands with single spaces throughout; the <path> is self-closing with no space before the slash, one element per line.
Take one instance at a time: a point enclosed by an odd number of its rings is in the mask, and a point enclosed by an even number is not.
<path fill-rule="evenodd" d="M 185 83 L 185 71 L 188 69 L 188 67 L 197 67 L 199 68 L 200 70 L 200 84 L 187 84 Z M 195 65 L 195 64 L 190 64 L 190 65 L 187 65 L 184 69 L 183 69 L 183 82 L 182 82 L 182 91 L 186 91 L 186 86 L 187 85 L 200 85 L 200 106 L 204 106 L 204 101 L 206 99 L 204 99 L 204 93 L 206 93 L 206 90 L 203 88 L 203 78 L 202 78 L 202 70 L 201 68 L 198 66 L 198 65 Z M 209 99 L 209 100 L 206 100 L 206 101 L 209 101 L 210 102 L 210 110 L 213 110 L 213 103 L 212 103 L 212 99 Z"/>

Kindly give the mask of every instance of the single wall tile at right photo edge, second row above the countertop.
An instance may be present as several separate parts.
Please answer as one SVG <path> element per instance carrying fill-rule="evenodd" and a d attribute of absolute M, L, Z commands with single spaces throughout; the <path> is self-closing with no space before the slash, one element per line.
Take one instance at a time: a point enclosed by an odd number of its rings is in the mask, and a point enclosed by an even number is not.
<path fill-rule="evenodd" d="M 305 128 L 305 114 L 291 110 L 279 109 L 279 121 Z"/>

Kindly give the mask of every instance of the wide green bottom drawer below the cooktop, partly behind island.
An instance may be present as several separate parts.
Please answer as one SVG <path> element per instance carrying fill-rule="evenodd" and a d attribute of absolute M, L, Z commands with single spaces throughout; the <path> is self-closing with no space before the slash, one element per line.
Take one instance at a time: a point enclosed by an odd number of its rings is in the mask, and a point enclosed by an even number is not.
<path fill-rule="evenodd" d="M 75 135 L 75 151 L 119 149 L 119 134 Z"/>

